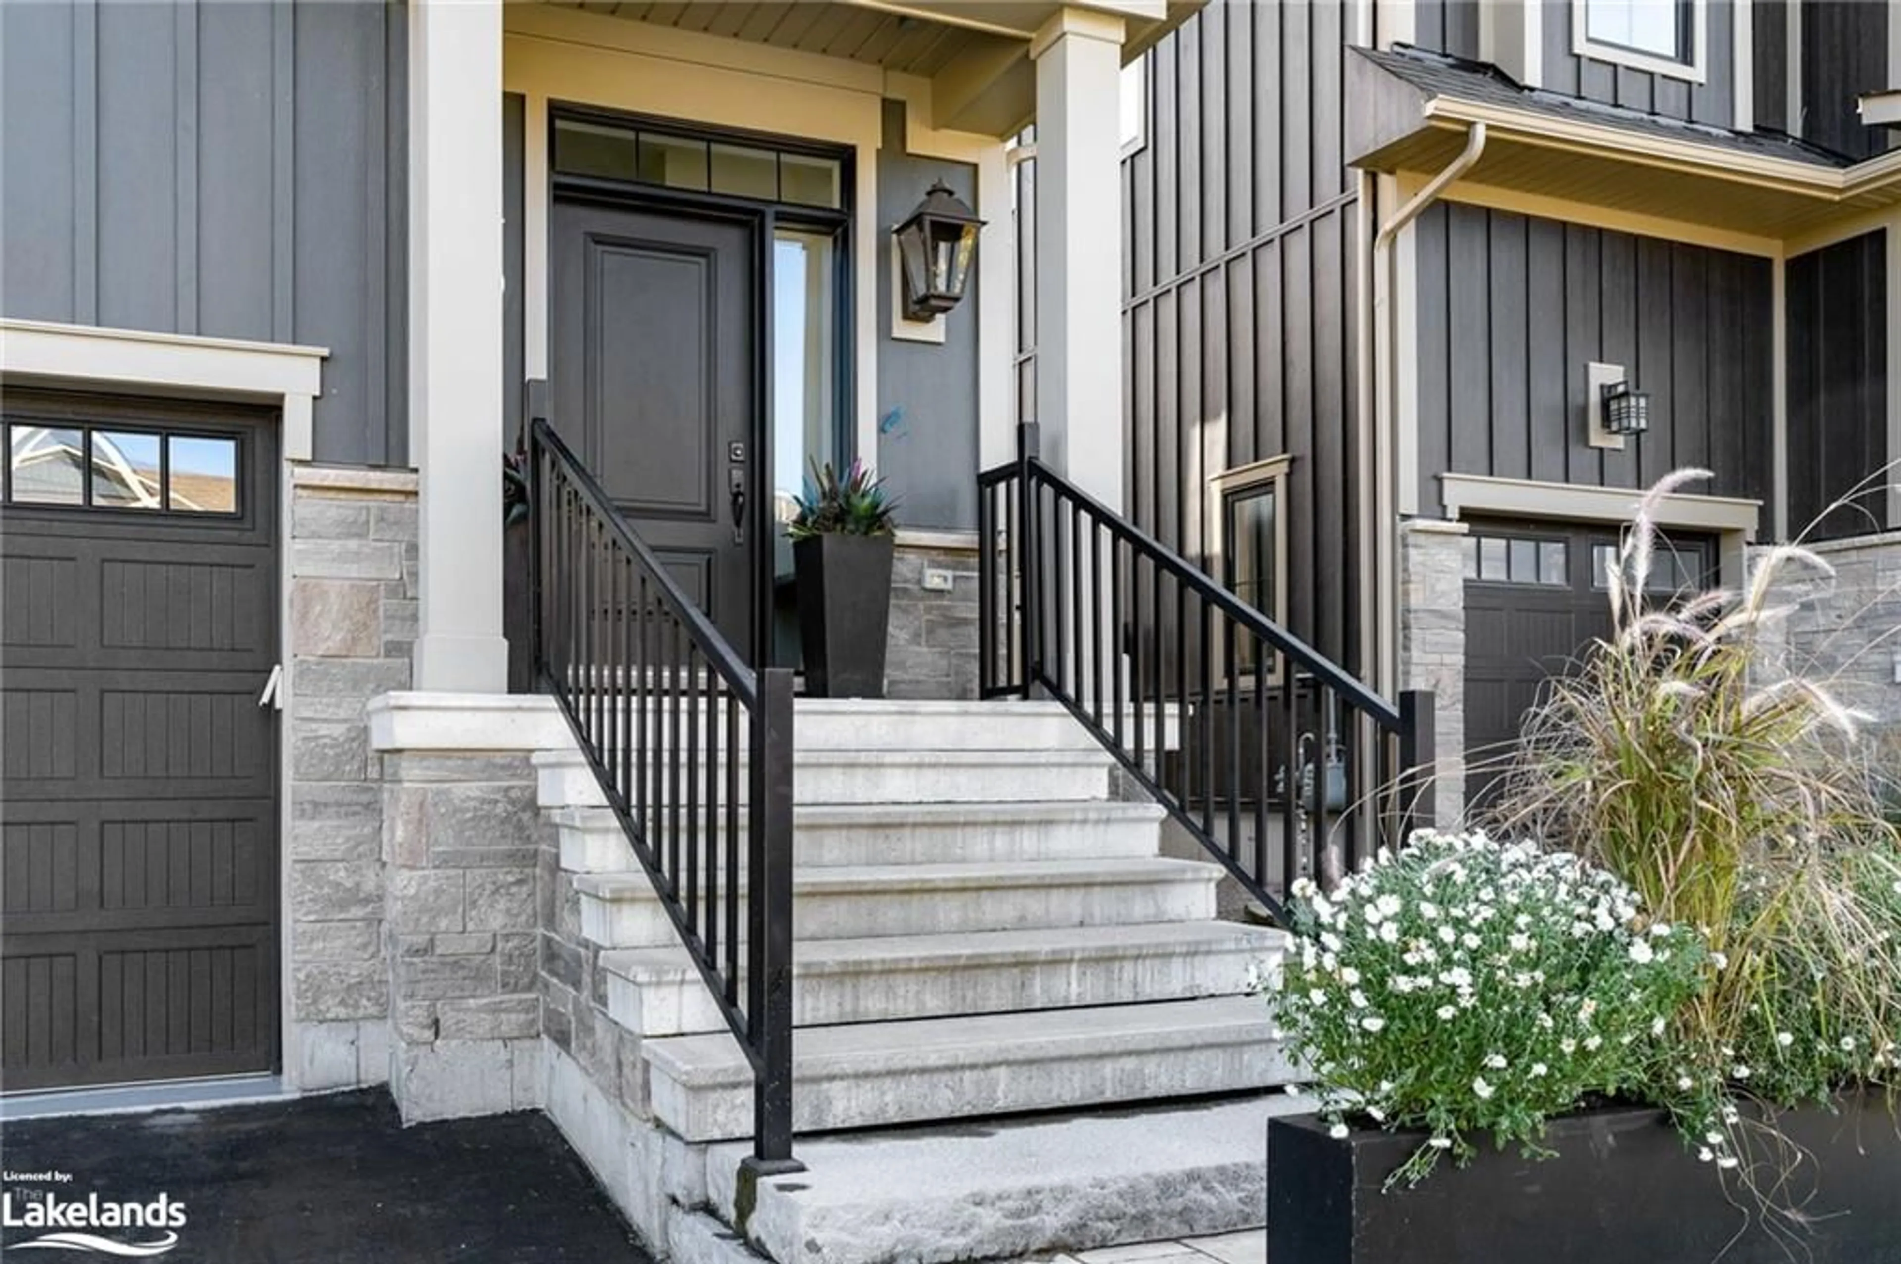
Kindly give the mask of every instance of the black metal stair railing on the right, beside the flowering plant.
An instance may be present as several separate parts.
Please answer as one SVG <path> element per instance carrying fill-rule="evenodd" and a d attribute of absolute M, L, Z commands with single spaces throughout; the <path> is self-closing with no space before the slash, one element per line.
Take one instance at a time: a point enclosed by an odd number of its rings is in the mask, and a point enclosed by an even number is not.
<path fill-rule="evenodd" d="M 1283 916 L 1431 819 L 1431 694 L 1373 694 L 1038 460 L 977 477 L 979 684 L 1059 699 Z"/>

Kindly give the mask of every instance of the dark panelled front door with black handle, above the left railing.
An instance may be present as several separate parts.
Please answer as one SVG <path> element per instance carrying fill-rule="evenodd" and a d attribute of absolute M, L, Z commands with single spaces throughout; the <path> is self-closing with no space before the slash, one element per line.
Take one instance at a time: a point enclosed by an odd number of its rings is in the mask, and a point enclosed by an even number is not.
<path fill-rule="evenodd" d="M 551 422 L 749 656 L 758 228 L 578 201 L 553 228 Z"/>

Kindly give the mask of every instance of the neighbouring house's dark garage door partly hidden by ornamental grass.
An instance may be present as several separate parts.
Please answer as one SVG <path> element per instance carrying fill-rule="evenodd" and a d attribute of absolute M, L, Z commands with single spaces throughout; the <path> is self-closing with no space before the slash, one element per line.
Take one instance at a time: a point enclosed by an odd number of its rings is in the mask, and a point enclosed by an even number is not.
<path fill-rule="evenodd" d="M 1485 808 L 1517 745 L 1525 711 L 1555 675 L 1610 637 L 1604 565 L 1618 534 L 1540 523 L 1473 523 L 1466 536 L 1466 796 Z M 1660 542 L 1652 599 L 1717 580 L 1707 536 Z"/>

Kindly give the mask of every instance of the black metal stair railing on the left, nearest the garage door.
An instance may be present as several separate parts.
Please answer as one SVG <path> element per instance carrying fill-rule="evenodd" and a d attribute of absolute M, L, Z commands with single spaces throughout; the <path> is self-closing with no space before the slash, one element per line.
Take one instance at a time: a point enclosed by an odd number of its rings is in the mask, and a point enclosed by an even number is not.
<path fill-rule="evenodd" d="M 528 431 L 534 667 L 793 1152 L 793 673 L 753 671 L 546 420 Z"/>

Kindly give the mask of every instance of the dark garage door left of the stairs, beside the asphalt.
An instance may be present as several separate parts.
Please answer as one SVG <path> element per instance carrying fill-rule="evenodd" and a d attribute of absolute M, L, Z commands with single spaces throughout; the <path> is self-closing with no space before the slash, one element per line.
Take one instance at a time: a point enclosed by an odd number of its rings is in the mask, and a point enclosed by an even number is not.
<path fill-rule="evenodd" d="M 278 1061 L 276 426 L 10 392 L 0 1087 Z"/>

